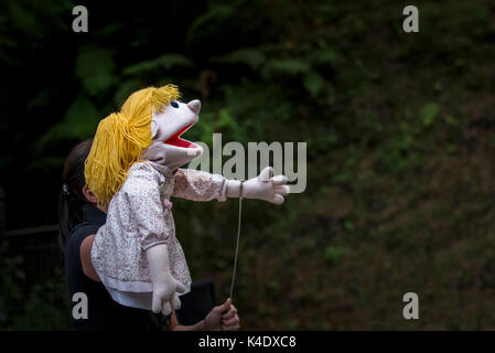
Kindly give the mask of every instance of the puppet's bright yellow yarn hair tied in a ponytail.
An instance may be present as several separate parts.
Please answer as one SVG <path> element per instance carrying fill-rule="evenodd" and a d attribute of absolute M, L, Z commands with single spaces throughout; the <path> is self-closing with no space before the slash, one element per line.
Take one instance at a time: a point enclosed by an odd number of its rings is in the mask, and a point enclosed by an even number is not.
<path fill-rule="evenodd" d="M 171 99 L 177 98 L 174 85 L 144 88 L 130 95 L 119 113 L 99 122 L 84 170 L 86 184 L 99 205 L 110 203 L 126 181 L 129 168 L 151 145 L 152 111 L 163 111 Z"/>

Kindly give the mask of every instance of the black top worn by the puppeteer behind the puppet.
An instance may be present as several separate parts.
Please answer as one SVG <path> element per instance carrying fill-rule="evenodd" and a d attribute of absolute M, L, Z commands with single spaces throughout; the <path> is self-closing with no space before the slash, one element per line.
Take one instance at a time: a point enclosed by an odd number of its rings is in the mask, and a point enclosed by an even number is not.
<path fill-rule="evenodd" d="M 83 222 L 74 227 L 65 244 L 65 277 L 68 290 L 71 320 L 76 330 L 138 330 L 161 331 L 164 328 L 164 317 L 151 311 L 129 308 L 111 299 L 101 282 L 86 277 L 80 264 L 80 244 L 98 232 L 106 222 L 107 215 L 92 204 L 83 208 Z M 80 313 L 80 297 L 74 293 L 85 293 L 87 297 L 87 319 L 75 319 Z"/>

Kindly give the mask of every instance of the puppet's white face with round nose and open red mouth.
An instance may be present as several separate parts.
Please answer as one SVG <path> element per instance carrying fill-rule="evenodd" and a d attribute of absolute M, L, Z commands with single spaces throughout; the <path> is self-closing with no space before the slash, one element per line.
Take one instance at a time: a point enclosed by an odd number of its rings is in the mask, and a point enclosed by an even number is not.
<path fill-rule="evenodd" d="M 197 122 L 200 110 L 201 101 L 194 99 L 190 103 L 171 100 L 162 113 L 153 113 L 151 120 L 153 145 L 164 143 L 164 159 L 168 162 L 176 159 L 176 162 L 186 163 L 203 152 L 200 146 L 181 138 L 182 133 Z"/>

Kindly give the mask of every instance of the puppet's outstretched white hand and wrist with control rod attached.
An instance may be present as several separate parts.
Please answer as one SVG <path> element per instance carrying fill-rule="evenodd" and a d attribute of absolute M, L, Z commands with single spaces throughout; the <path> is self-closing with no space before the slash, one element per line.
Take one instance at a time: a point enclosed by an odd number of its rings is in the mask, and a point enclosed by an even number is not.
<path fill-rule="evenodd" d="M 265 200 L 275 204 L 282 204 L 290 192 L 286 175 L 273 176 L 273 168 L 265 168 L 258 176 L 243 183 L 243 197 Z M 229 180 L 227 182 L 227 196 L 239 197 L 240 182 Z"/>

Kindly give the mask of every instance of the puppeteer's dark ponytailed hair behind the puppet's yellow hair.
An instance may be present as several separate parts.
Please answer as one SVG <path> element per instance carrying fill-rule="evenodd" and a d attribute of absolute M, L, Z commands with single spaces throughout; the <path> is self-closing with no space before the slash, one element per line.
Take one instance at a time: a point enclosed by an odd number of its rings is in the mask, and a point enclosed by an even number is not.
<path fill-rule="evenodd" d="M 58 245 L 62 253 L 72 229 L 83 222 L 83 206 L 87 203 L 83 194 L 83 188 L 86 185 L 84 165 L 92 143 L 93 138 L 74 147 L 62 172 L 63 185 L 58 197 Z"/>

